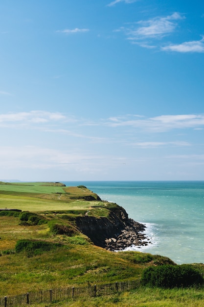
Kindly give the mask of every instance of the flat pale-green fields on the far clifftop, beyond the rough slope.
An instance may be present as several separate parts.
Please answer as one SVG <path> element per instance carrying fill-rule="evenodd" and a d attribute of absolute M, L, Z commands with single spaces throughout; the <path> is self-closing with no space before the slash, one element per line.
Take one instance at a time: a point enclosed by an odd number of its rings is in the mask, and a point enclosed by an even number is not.
<path fill-rule="evenodd" d="M 95 201 L 86 201 L 87 197 Z M 80 198 L 84 197 L 85 200 Z M 29 182 L 3 183 L 0 182 L 0 208 L 20 209 L 23 211 L 58 211 L 69 209 L 89 209 L 91 206 L 104 205 L 99 203 L 96 194 L 89 189 L 64 187 L 59 183 Z"/>

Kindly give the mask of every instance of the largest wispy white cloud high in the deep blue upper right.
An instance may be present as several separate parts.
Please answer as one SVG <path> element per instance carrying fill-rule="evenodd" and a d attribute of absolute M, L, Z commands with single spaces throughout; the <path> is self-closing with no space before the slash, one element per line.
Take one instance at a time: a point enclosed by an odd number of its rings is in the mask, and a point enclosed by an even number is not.
<path fill-rule="evenodd" d="M 177 20 L 184 17 L 177 12 L 166 17 L 156 17 L 147 21 L 139 21 L 141 25 L 127 32 L 129 40 L 144 40 L 146 38 L 161 38 L 175 31 Z"/>

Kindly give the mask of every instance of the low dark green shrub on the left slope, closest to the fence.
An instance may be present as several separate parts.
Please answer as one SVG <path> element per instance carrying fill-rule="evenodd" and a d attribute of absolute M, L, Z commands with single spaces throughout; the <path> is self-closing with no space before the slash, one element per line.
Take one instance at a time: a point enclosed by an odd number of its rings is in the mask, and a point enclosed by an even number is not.
<path fill-rule="evenodd" d="M 16 253 L 27 252 L 29 255 L 38 255 L 61 246 L 62 244 L 58 243 L 22 239 L 17 241 L 15 251 Z"/>

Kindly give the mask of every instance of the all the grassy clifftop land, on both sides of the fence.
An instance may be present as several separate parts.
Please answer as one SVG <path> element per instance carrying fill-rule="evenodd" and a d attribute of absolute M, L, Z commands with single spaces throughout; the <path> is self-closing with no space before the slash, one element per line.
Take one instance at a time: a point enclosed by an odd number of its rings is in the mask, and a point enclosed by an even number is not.
<path fill-rule="evenodd" d="M 87 201 L 90 196 L 93 200 Z M 88 211 L 91 216 L 107 216 L 109 203 L 98 201 L 85 187 L 2 183 L 0 208 L 0 297 L 68 285 L 139 280 L 145 268 L 173 263 L 159 255 L 113 253 L 93 245 L 76 228 L 74 218 Z M 45 245 L 49 250 L 45 250 Z M 204 273 L 203 264 L 193 266 Z M 203 299 L 203 286 L 187 289 L 140 286 L 134 291 L 62 300 L 46 306 L 204 307 Z"/>

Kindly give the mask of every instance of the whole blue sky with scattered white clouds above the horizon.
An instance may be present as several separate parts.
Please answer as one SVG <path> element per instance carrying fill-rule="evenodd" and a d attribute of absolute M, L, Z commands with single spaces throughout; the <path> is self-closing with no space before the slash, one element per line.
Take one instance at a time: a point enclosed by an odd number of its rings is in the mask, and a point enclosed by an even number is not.
<path fill-rule="evenodd" d="M 204 180 L 204 2 L 0 1 L 0 180 Z"/>

